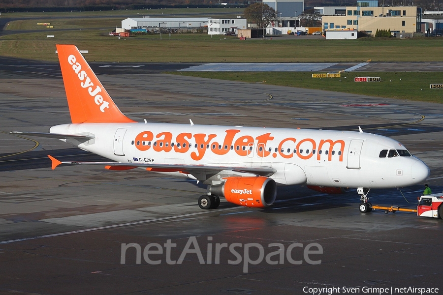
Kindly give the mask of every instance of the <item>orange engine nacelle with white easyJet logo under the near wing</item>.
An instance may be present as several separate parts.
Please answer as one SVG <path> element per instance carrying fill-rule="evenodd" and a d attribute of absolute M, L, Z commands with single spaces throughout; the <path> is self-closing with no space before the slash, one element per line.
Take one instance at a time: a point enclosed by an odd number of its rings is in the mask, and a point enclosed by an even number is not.
<path fill-rule="evenodd" d="M 264 176 L 228 177 L 223 184 L 211 186 L 210 192 L 236 205 L 263 208 L 274 203 L 277 184 Z"/>

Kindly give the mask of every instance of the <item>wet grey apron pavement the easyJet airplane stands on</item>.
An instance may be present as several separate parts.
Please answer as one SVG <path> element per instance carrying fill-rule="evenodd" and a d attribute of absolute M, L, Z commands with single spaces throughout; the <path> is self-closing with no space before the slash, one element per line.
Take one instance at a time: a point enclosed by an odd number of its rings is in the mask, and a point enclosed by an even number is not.
<path fill-rule="evenodd" d="M 53 139 L 27 139 L 10 131 L 47 132 L 69 122 L 63 81 L 32 75 L 0 77 L 0 293 L 23 294 L 306 294 L 304 288 L 442 288 L 443 222 L 411 213 L 358 211 L 355 190 L 325 195 L 304 186 L 279 187 L 266 209 L 221 200 L 204 211 L 206 189 L 192 180 L 143 170 L 111 172 L 98 167 L 51 170 L 46 154 L 63 160 L 104 160 Z M 402 142 L 431 169 L 433 192 L 443 190 L 443 105 L 381 97 L 226 82 L 167 74 L 99 75 L 121 111 L 138 121 L 358 130 Z M 424 184 L 424 183 L 423 183 Z M 413 208 L 422 185 L 373 190 L 371 202 Z M 403 197 L 404 196 L 404 197 Z M 196 253 L 178 261 L 195 237 Z M 141 247 L 136 263 L 129 248 Z M 158 243 L 163 254 L 143 250 Z M 215 264 L 216 244 L 240 243 L 243 259 L 227 248 Z M 294 243 L 293 261 L 249 264 L 246 244 L 264 255 Z M 322 254 L 304 249 L 312 243 Z M 211 244 L 211 246 L 209 246 Z M 190 246 L 194 249 L 195 244 Z M 211 264 L 209 264 L 208 247 Z M 149 249 L 148 249 L 149 250 Z M 151 248 L 156 250 L 156 248 Z M 249 249 L 251 261 L 259 249 Z M 279 255 L 271 261 L 279 261 Z M 308 289 L 305 289 L 308 290 Z M 342 289 L 340 289 L 342 290 Z M 343 293 L 343 292 L 342 292 Z M 372 293 L 367 293 L 372 294 Z"/>

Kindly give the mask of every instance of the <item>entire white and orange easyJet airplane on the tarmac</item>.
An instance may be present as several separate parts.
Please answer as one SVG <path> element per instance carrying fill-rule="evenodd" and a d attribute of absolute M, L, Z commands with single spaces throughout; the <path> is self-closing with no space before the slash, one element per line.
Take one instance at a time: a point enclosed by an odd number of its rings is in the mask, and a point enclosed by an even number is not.
<path fill-rule="evenodd" d="M 208 185 L 198 200 L 217 208 L 220 197 L 247 207 L 274 203 L 277 185 L 307 184 L 340 193 L 357 188 L 361 212 L 372 205 L 371 188 L 418 184 L 429 168 L 399 142 L 352 131 L 303 130 L 136 122 L 123 115 L 74 45 L 57 45 L 72 123 L 50 133 L 12 132 L 58 138 L 115 162 L 91 164 L 109 170 L 142 168 Z"/>

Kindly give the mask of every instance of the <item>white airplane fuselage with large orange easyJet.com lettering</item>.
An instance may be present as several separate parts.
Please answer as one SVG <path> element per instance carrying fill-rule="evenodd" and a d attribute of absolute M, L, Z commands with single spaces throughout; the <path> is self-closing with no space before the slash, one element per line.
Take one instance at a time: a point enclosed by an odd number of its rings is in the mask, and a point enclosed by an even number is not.
<path fill-rule="evenodd" d="M 272 167 L 268 177 L 283 185 L 392 188 L 429 175 L 399 142 L 364 132 L 167 123 L 63 124 L 50 132 L 93 135 L 64 141 L 123 163 Z M 203 178 L 215 185 L 221 177 Z"/>

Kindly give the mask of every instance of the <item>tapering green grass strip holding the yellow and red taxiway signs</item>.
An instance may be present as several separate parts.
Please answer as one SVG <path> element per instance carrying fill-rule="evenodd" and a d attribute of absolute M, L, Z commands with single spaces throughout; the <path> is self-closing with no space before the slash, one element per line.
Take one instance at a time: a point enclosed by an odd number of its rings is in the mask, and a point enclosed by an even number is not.
<path fill-rule="evenodd" d="M 312 78 L 311 72 L 169 72 L 169 74 L 443 103 L 443 89 L 430 89 L 430 83 L 443 83 L 442 72 L 345 72 L 341 73 L 341 78 L 322 79 Z M 381 82 L 356 83 L 354 77 L 380 77 Z"/>

